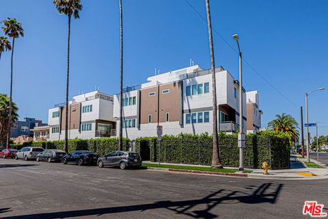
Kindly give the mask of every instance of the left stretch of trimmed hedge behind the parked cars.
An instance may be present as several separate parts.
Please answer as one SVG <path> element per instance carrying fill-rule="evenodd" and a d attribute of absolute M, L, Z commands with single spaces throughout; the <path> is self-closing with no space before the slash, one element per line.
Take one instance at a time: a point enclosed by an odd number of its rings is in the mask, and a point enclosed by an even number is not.
<path fill-rule="evenodd" d="M 130 140 L 127 138 L 123 139 L 123 150 L 126 150 L 126 146 Z M 27 142 L 25 144 L 14 144 L 12 148 L 21 149 L 24 146 L 32 147 L 42 147 L 44 149 L 59 149 L 64 151 L 65 141 L 56 140 L 56 141 L 38 141 L 38 142 Z M 118 138 L 96 138 L 96 139 L 70 139 L 68 140 L 68 153 L 73 151 L 83 150 L 83 151 L 93 151 L 100 155 L 105 155 L 111 151 L 118 150 Z"/>

